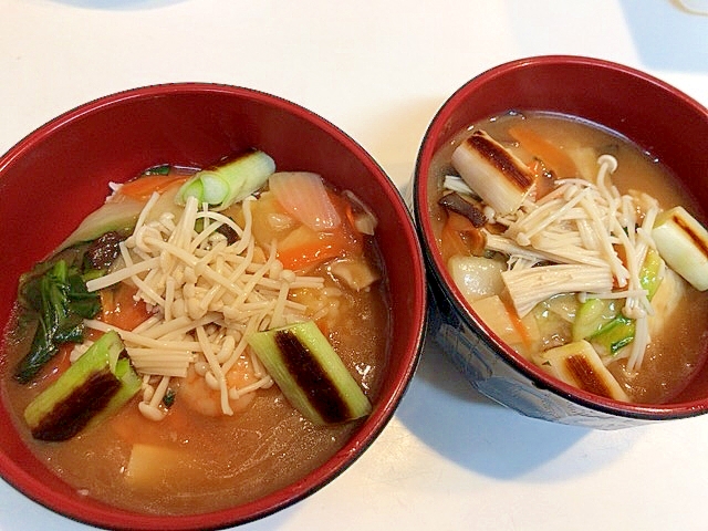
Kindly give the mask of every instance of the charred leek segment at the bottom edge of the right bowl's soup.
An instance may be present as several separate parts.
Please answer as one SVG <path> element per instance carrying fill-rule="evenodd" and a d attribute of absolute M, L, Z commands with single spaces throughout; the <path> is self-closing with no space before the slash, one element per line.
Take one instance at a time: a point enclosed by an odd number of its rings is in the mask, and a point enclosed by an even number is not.
<path fill-rule="evenodd" d="M 576 341 L 540 354 L 539 364 L 556 378 L 573 387 L 629 402 L 612 373 L 586 341 Z"/>

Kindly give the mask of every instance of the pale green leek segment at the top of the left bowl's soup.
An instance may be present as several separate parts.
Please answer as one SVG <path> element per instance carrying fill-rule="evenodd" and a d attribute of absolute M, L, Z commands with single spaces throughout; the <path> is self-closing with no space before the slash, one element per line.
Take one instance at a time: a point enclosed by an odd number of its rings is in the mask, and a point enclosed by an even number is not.
<path fill-rule="evenodd" d="M 273 171 L 275 163 L 269 155 L 249 152 L 221 166 L 197 171 L 181 186 L 175 201 L 184 205 L 192 196 L 212 210 L 223 210 L 261 188 Z"/>

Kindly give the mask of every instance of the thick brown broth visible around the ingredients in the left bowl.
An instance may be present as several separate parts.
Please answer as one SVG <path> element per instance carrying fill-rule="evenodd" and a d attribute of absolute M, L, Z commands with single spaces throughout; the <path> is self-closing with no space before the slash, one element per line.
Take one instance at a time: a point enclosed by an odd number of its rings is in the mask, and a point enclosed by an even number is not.
<path fill-rule="evenodd" d="M 378 251 L 366 243 L 369 259 Z M 383 267 L 382 263 L 378 263 Z M 329 339 L 364 393 L 375 402 L 386 371 L 389 316 L 386 282 L 355 291 L 327 272 L 321 275 L 337 293 L 327 316 Z M 294 300 L 313 296 L 308 289 Z M 42 385 L 20 385 L 12 377 L 31 333 L 14 327 L 6 341 L 2 399 L 13 412 L 27 445 L 50 469 L 82 494 L 131 511 L 194 514 L 262 498 L 314 470 L 332 457 L 361 425 L 317 427 L 302 417 L 275 385 L 260 389 L 242 412 L 211 417 L 196 414 L 177 398 L 162 421 L 142 416 L 135 400 L 118 415 L 63 442 L 32 438 L 23 418 L 25 406 Z M 159 447 L 149 486 L 126 478 L 133 445 Z"/>

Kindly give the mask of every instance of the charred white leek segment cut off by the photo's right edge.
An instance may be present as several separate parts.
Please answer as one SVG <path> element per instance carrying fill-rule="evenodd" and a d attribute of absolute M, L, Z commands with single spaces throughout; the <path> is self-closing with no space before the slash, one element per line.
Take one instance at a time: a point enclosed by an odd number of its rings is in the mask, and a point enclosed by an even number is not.
<path fill-rule="evenodd" d="M 708 289 L 708 231 L 683 207 L 659 214 L 652 230 L 662 258 L 698 291 Z"/>

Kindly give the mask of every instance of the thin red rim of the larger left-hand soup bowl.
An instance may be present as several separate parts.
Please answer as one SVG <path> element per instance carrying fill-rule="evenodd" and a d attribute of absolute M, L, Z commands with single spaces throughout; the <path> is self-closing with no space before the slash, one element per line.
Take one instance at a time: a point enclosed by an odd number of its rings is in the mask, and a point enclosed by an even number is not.
<path fill-rule="evenodd" d="M 6 168 L 31 152 L 43 138 L 71 126 L 73 122 L 84 116 L 101 113 L 106 107 L 122 105 L 134 100 L 199 93 L 240 96 L 254 100 L 263 105 L 278 107 L 289 114 L 295 114 L 344 145 L 344 147 L 352 152 L 353 156 L 366 167 L 367 171 L 374 176 L 375 183 L 381 188 L 379 192 L 385 194 L 391 200 L 393 210 L 396 212 L 396 218 L 406 221 L 407 226 L 400 227 L 399 233 L 400 238 L 406 240 L 406 247 L 408 247 L 413 253 L 410 278 L 419 279 L 419 282 L 410 282 L 409 290 L 409 298 L 413 301 L 415 310 L 415 320 L 406 325 L 409 334 L 407 334 L 405 352 L 409 353 L 407 356 L 409 360 L 407 360 L 405 364 L 402 364 L 402 368 L 396 374 L 396 384 L 391 386 L 387 395 L 379 396 L 378 404 L 374 408 L 374 412 L 362 423 L 362 426 L 356 428 L 346 444 L 323 464 L 308 473 L 305 478 L 301 478 L 262 498 L 217 511 L 185 516 L 154 516 L 129 512 L 126 509 L 92 500 L 90 514 L 86 516 L 86 508 L 83 507 L 81 501 L 76 498 L 69 498 L 63 493 L 56 494 L 51 487 L 37 480 L 28 470 L 9 459 L 4 449 L 0 446 L 0 477 L 8 485 L 54 513 L 81 523 L 131 530 L 197 530 L 205 529 L 205 527 L 209 529 L 223 529 L 252 522 L 293 506 L 337 478 L 371 447 L 388 425 L 398 405 L 403 400 L 421 356 L 427 321 L 425 261 L 423 249 L 415 231 L 413 215 L 406 207 L 400 190 L 398 190 L 383 167 L 352 136 L 317 113 L 290 100 L 246 86 L 210 82 L 186 81 L 159 83 L 122 90 L 80 104 L 31 131 L 10 147 L 6 154 L 0 156 L 0 180 L 2 179 Z M 391 326 L 393 326 L 393 322 Z M 362 430 L 364 426 L 366 429 Z"/>

